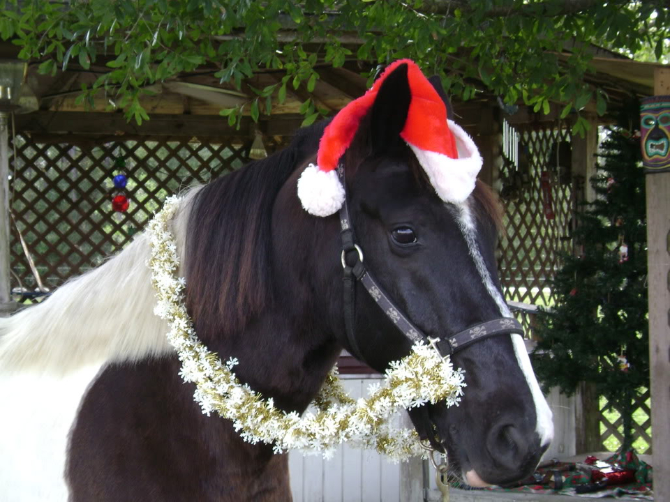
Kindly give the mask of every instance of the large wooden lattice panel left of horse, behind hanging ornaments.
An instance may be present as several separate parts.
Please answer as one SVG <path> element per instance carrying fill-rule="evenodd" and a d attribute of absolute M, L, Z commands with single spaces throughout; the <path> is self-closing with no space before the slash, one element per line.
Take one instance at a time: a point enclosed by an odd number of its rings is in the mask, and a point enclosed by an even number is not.
<path fill-rule="evenodd" d="M 265 138 L 274 151 L 282 138 Z M 46 289 L 59 286 L 121 249 L 170 194 L 207 183 L 244 165 L 248 137 L 125 139 L 113 142 L 34 142 L 17 135 L 10 169 L 11 267 L 17 299 L 34 296 L 34 260 Z M 112 209 L 126 174 L 126 213 Z M 23 239 L 24 247 L 21 243 Z"/>

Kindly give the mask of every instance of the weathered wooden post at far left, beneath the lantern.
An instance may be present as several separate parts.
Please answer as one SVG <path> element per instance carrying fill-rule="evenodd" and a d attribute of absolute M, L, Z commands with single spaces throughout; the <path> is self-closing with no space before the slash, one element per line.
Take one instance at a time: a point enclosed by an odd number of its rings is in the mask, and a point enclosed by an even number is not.
<path fill-rule="evenodd" d="M 0 317 L 14 312 L 10 285 L 9 248 L 9 114 L 0 112 Z"/>

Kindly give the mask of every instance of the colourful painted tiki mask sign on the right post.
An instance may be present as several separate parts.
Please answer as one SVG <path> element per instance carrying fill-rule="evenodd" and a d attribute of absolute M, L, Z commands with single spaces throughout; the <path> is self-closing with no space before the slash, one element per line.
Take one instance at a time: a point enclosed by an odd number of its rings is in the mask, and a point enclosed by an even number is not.
<path fill-rule="evenodd" d="M 642 100 L 640 134 L 645 172 L 670 171 L 670 96 Z"/>

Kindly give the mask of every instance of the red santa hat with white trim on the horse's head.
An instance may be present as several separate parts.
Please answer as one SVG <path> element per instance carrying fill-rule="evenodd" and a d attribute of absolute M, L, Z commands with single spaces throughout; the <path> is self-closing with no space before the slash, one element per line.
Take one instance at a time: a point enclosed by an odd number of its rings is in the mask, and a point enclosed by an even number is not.
<path fill-rule="evenodd" d="M 335 169 L 385 79 L 401 65 L 408 67 L 411 95 L 401 138 L 415 153 L 440 199 L 462 202 L 474 190 L 482 167 L 477 146 L 462 128 L 447 119 L 445 102 L 417 64 L 401 59 L 389 65 L 371 89 L 341 109 L 325 128 L 317 165 L 310 164 L 298 180 L 298 197 L 308 213 L 328 216 L 341 208 L 345 192 Z"/>

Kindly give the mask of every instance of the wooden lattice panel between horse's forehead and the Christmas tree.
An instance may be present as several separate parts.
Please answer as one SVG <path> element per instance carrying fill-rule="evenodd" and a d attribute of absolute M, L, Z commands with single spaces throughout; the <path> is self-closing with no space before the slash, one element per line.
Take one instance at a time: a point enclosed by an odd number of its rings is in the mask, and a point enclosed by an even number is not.
<path fill-rule="evenodd" d="M 569 142 L 562 124 L 512 130 L 516 155 L 500 172 L 505 208 L 498 264 L 508 300 L 551 305 L 547 282 L 572 249 L 574 195 L 572 176 L 560 164 L 557 145 Z M 516 134 L 515 134 L 516 132 Z M 516 157 L 516 158 L 514 158 Z"/>

